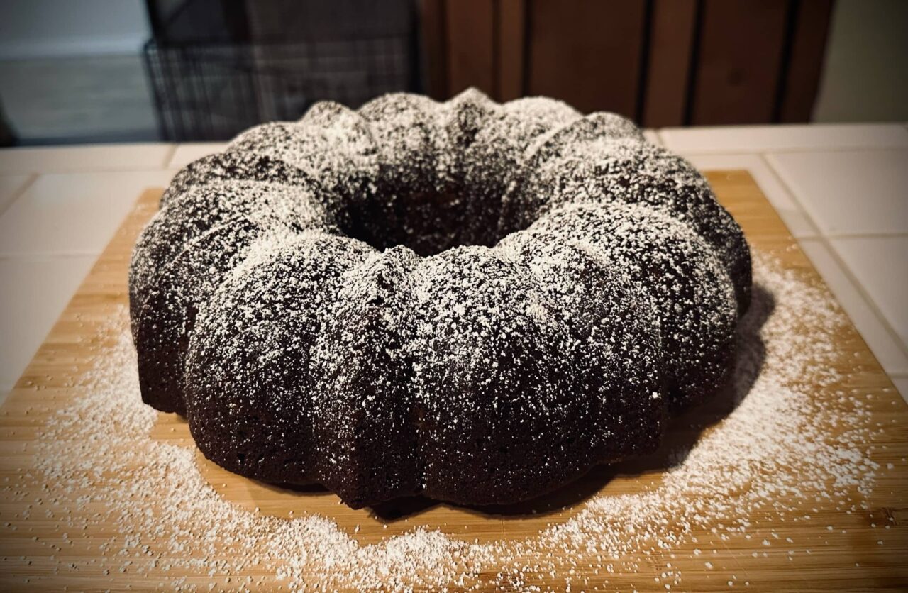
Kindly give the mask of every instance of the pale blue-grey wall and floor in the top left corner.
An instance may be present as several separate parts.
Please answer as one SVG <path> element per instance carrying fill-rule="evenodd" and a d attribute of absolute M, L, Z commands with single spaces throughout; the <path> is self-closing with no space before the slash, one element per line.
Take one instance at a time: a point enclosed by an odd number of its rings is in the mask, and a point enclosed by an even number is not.
<path fill-rule="evenodd" d="M 15 143 L 156 140 L 143 0 L 0 0 L 0 106 Z"/>

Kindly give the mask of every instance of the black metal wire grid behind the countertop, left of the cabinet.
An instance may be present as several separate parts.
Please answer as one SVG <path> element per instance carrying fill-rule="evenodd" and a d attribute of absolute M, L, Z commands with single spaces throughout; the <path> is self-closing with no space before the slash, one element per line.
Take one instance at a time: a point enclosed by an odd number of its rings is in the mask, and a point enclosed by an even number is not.
<path fill-rule="evenodd" d="M 161 136 L 218 141 L 262 122 L 295 120 L 316 101 L 358 107 L 416 90 L 411 32 L 349 39 L 144 45 Z"/>

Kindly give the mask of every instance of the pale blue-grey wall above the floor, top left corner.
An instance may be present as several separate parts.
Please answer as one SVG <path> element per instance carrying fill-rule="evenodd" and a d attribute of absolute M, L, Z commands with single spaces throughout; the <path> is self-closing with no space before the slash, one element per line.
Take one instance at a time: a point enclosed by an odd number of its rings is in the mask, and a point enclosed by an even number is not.
<path fill-rule="evenodd" d="M 0 60 L 138 54 L 143 0 L 0 0 Z"/>

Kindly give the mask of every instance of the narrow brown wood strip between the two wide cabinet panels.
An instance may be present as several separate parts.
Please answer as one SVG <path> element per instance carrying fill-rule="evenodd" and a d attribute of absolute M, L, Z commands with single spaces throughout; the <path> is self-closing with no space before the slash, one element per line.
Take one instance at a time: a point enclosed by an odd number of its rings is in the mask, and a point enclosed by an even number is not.
<path fill-rule="evenodd" d="M 696 0 L 653 4 L 641 122 L 646 126 L 684 124 L 696 18 Z"/>

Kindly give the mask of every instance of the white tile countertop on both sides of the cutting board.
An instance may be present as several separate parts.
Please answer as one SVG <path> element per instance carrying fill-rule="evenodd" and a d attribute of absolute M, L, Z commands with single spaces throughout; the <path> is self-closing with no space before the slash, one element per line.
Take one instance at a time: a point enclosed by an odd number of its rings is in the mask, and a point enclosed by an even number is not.
<path fill-rule="evenodd" d="M 908 125 L 647 131 L 702 170 L 745 169 L 908 399 Z M 0 151 L 0 401 L 146 187 L 222 144 Z"/>

